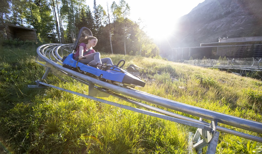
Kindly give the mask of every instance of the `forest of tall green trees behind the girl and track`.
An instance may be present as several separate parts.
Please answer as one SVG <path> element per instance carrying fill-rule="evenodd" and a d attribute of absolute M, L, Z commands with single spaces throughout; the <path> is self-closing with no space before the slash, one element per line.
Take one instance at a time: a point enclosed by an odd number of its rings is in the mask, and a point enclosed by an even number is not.
<path fill-rule="evenodd" d="M 130 20 L 130 7 L 107 3 L 93 8 L 84 0 L 2 0 L 0 25 L 3 23 L 36 29 L 41 43 L 74 43 L 81 27 L 97 37 L 97 52 L 155 57 L 159 48 L 143 31 L 143 21 Z M 91 11 L 92 10 L 92 11 Z M 142 28 L 141 28 L 142 27 Z"/>

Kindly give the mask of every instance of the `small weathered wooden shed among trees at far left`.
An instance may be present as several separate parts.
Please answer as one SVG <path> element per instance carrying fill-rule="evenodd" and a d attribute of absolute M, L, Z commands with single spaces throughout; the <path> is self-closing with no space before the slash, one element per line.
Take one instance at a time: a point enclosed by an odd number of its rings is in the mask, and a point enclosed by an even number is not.
<path fill-rule="evenodd" d="M 7 39 L 18 38 L 22 41 L 37 42 L 36 29 L 12 24 L 3 24 Z"/>

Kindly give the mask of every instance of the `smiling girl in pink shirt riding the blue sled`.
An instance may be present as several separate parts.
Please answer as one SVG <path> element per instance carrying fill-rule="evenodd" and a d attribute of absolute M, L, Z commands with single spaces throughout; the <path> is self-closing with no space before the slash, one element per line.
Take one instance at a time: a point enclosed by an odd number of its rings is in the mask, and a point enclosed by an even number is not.
<path fill-rule="evenodd" d="M 74 54 L 74 59 L 80 59 L 80 63 L 88 63 L 91 65 L 96 65 L 101 68 L 102 64 L 113 65 L 111 58 L 100 58 L 100 53 L 95 52 L 93 49 L 96 46 L 97 38 L 94 36 L 89 36 L 88 38 L 80 38 L 79 45 L 77 46 L 76 52 Z M 83 59 L 86 57 L 86 59 Z"/>

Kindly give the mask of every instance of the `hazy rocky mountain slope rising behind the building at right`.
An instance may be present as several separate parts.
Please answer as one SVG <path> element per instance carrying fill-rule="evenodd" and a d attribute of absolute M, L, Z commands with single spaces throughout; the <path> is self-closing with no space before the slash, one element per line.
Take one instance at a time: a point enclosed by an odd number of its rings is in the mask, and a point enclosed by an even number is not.
<path fill-rule="evenodd" d="M 179 18 L 177 25 L 168 47 L 161 43 L 161 51 L 218 42 L 219 37 L 262 36 L 262 1 L 205 0 Z"/>

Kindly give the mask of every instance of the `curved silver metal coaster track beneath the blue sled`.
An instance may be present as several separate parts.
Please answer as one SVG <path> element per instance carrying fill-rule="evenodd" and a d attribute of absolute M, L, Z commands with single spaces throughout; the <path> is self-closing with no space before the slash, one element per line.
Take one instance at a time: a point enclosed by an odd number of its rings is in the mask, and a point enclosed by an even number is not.
<path fill-rule="evenodd" d="M 226 125 L 230 125 L 233 127 L 237 127 L 237 128 L 241 128 L 241 129 L 245 129 L 245 130 L 249 130 L 249 131 L 253 131 L 253 132 L 262 134 L 262 123 L 260 122 L 255 122 L 255 121 L 248 120 L 248 119 L 243 119 L 243 118 L 234 117 L 234 116 L 230 116 L 230 115 L 215 112 L 215 111 L 210 111 L 207 109 L 187 105 L 181 102 L 177 102 L 177 101 L 169 100 L 169 99 L 162 98 L 159 96 L 155 96 L 152 94 L 148 94 L 146 92 L 142 92 L 142 91 L 135 90 L 132 88 L 121 87 L 119 85 L 110 84 L 105 81 L 101 81 L 96 78 L 93 78 L 91 76 L 84 75 L 79 72 L 75 72 L 74 70 L 62 67 L 61 60 L 63 56 L 67 56 L 69 53 L 72 53 L 73 46 L 74 44 L 66 44 L 66 45 L 64 44 L 45 44 L 45 45 L 39 46 L 37 48 L 38 57 L 37 57 L 36 62 L 45 66 L 46 70 L 50 68 L 51 72 L 54 75 L 70 76 L 71 78 L 78 80 L 86 85 L 94 86 L 96 90 L 101 91 L 103 93 L 112 95 L 114 97 L 118 97 L 122 100 L 145 107 L 152 111 L 157 111 L 161 114 L 167 115 L 168 117 L 174 117 L 174 118 L 184 120 L 181 122 L 178 121 L 179 123 L 183 123 L 186 125 L 205 129 L 211 133 L 214 133 L 214 131 L 219 130 L 225 133 L 233 134 L 236 136 L 241 136 L 243 138 L 247 138 L 250 140 L 262 142 L 262 138 L 259 138 L 257 136 L 253 136 L 253 135 L 245 134 L 239 131 L 234 131 L 234 130 L 230 130 L 224 127 L 217 126 L 217 123 L 222 123 L 222 124 L 226 124 Z M 39 61 L 42 61 L 45 64 L 40 63 Z M 44 76 L 46 75 L 47 74 L 45 73 Z M 119 95 L 119 94 L 122 94 L 122 95 Z M 202 120 L 196 120 L 196 119 L 188 118 L 185 116 L 181 116 L 179 114 L 168 112 L 166 110 L 162 110 L 162 109 L 152 107 L 152 106 L 146 105 L 138 101 L 134 101 L 133 99 L 128 98 L 128 97 L 131 97 L 137 100 L 141 100 L 141 101 L 145 101 L 145 102 L 149 102 L 149 103 L 159 105 L 162 107 L 166 107 L 169 109 L 173 109 L 175 111 L 183 112 L 183 113 L 190 114 L 193 116 L 197 116 L 203 119 L 211 120 L 211 123 L 214 122 L 215 127 L 214 126 L 211 127 L 212 124 L 204 122 Z M 166 119 L 170 120 L 168 118 Z"/>

